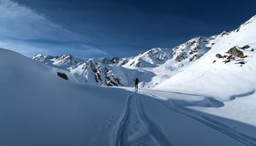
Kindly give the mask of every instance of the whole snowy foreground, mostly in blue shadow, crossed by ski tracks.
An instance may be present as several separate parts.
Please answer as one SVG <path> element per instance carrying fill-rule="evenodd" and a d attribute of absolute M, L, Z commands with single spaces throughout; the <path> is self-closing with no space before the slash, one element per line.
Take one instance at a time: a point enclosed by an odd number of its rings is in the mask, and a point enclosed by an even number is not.
<path fill-rule="evenodd" d="M 0 68 L 0 145 L 256 145 L 255 123 L 187 109 L 218 109 L 224 102 L 217 99 L 80 86 L 5 49 L 0 49 Z"/>

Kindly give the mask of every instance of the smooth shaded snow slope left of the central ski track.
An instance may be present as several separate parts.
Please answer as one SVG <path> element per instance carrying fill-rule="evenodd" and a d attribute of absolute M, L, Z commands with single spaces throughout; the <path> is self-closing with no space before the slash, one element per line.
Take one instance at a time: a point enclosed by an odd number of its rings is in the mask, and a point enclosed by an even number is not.
<path fill-rule="evenodd" d="M 4 49 L 0 59 L 0 145 L 108 143 L 113 117 L 121 114 L 131 93 L 78 86 L 57 77 L 52 68 Z"/>

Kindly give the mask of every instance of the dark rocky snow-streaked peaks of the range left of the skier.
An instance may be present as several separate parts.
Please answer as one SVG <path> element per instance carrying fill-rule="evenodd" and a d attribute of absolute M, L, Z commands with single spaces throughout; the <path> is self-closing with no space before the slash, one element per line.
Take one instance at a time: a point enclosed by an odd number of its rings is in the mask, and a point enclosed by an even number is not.
<path fill-rule="evenodd" d="M 58 70 L 69 71 L 70 75 L 76 78 L 76 81 L 80 84 L 123 86 L 122 80 L 116 77 L 110 68 L 110 66 L 117 64 L 118 58 L 82 60 L 71 55 L 53 57 L 38 54 L 32 59 L 58 68 Z"/>

